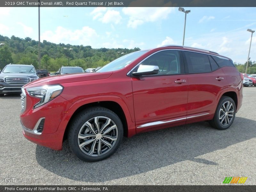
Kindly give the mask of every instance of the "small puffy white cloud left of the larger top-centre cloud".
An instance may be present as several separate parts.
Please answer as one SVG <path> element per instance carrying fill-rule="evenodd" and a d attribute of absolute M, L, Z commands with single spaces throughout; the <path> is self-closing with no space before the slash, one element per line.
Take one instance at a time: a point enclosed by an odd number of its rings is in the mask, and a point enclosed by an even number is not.
<path fill-rule="evenodd" d="M 106 7 L 97 7 L 90 14 L 93 15 L 93 20 L 99 20 L 102 23 L 118 24 L 122 20 L 119 11 L 107 10 Z"/>

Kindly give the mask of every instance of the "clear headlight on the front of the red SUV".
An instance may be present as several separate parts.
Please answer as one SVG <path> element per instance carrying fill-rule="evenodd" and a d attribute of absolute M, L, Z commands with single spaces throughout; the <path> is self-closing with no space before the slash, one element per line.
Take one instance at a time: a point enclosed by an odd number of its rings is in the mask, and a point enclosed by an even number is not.
<path fill-rule="evenodd" d="M 37 108 L 60 95 L 62 90 L 63 87 L 61 85 L 45 85 L 28 88 L 27 92 L 32 97 L 37 97 L 40 99 L 40 101 L 34 105 L 34 108 Z"/>

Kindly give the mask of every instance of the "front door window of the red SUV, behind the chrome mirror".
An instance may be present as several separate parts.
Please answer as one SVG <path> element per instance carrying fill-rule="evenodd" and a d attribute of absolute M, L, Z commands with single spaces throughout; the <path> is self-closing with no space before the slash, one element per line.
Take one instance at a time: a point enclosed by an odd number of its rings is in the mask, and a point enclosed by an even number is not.
<path fill-rule="evenodd" d="M 142 61 L 140 65 L 158 66 L 158 74 L 150 76 L 180 74 L 179 52 L 176 50 L 160 51 L 151 55 L 146 60 Z M 136 70 L 139 68 L 139 66 L 136 68 Z"/>

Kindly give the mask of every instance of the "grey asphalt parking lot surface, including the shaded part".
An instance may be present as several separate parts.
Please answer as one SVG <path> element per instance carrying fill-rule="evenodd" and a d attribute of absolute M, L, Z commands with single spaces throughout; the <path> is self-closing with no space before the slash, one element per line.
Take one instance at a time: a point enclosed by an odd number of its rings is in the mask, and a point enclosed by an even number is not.
<path fill-rule="evenodd" d="M 221 185 L 225 177 L 237 176 L 248 177 L 244 185 L 255 185 L 256 87 L 244 87 L 243 94 L 243 106 L 227 130 L 200 122 L 139 134 L 124 138 L 113 156 L 96 163 L 76 158 L 67 142 L 54 151 L 26 140 L 20 95 L 5 95 L 0 98 L 0 184 Z"/>

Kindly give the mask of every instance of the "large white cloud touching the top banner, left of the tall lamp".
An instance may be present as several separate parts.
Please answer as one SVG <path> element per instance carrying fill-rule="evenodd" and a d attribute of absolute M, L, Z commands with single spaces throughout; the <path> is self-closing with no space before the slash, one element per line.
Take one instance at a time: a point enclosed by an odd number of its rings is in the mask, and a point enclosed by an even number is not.
<path fill-rule="evenodd" d="M 129 16 L 127 27 L 137 28 L 145 22 L 167 19 L 174 7 L 124 7 L 122 11 Z"/>

